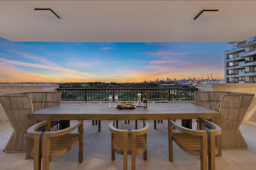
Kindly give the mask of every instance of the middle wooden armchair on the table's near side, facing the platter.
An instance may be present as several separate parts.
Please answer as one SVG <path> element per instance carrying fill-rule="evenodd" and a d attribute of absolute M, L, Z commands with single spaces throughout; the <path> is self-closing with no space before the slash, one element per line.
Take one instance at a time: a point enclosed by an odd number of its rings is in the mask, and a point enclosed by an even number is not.
<path fill-rule="evenodd" d="M 135 170 L 136 155 L 144 153 L 144 160 L 147 160 L 147 132 L 149 123 L 143 120 L 143 128 L 138 130 L 121 130 L 115 128 L 115 121 L 109 123 L 111 131 L 111 157 L 115 160 L 115 153 L 124 156 L 124 170 L 127 170 L 127 155 L 132 156 L 132 170 Z"/>

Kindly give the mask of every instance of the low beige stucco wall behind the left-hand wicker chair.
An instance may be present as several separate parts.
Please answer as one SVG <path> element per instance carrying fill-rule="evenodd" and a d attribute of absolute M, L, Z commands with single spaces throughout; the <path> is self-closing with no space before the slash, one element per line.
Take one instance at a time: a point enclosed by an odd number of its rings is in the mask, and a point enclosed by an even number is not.
<path fill-rule="evenodd" d="M 0 83 L 0 94 L 20 93 L 20 92 L 56 92 L 58 84 L 53 83 Z M 0 122 L 8 122 L 8 118 L 0 104 Z"/>

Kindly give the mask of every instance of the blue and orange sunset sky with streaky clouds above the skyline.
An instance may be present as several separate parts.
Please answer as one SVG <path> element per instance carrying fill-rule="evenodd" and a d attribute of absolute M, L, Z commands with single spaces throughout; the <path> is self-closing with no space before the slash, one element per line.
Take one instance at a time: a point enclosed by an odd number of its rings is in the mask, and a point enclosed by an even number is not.
<path fill-rule="evenodd" d="M 11 42 L 0 38 L 0 83 L 144 82 L 224 78 L 228 42 Z"/>

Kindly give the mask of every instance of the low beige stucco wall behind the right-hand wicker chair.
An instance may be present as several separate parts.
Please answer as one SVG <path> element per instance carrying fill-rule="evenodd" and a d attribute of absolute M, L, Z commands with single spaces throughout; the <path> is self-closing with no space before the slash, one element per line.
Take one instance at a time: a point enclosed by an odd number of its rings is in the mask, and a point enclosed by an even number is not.
<path fill-rule="evenodd" d="M 242 92 L 256 95 L 256 84 L 254 83 L 196 84 L 196 88 L 198 91 Z M 256 96 L 254 96 L 244 120 L 256 121 Z"/>

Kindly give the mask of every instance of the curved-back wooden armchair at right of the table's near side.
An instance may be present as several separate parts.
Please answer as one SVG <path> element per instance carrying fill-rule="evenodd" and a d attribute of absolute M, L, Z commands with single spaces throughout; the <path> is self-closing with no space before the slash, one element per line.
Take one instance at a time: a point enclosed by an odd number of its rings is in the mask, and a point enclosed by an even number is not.
<path fill-rule="evenodd" d="M 215 170 L 215 155 L 218 153 L 215 137 L 221 134 L 221 128 L 205 119 L 199 119 L 199 124 L 200 129 L 204 129 L 204 125 L 207 125 L 211 130 L 208 130 L 208 132 L 205 130 L 192 130 L 178 125 L 173 120 L 168 120 L 169 160 L 173 161 L 172 140 L 174 140 L 185 152 L 200 156 L 201 170 L 207 170 L 207 155 L 208 170 Z M 173 133 L 172 126 L 181 132 Z"/>

